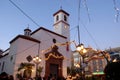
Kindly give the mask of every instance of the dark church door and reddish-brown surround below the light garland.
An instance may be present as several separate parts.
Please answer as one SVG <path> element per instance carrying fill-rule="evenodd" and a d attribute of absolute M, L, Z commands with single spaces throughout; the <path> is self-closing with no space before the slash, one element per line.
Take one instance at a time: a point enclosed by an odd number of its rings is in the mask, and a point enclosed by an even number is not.
<path fill-rule="evenodd" d="M 53 57 L 50 57 L 46 61 L 45 65 L 45 77 L 48 77 L 50 75 L 55 76 L 55 77 L 62 77 L 62 64 L 63 64 L 63 59 L 56 59 Z"/>

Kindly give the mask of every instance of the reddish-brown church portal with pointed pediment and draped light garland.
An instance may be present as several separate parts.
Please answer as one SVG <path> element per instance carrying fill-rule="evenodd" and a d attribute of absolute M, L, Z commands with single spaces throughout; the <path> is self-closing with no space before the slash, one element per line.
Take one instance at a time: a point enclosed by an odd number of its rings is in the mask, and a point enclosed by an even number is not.
<path fill-rule="evenodd" d="M 62 75 L 62 64 L 63 64 L 63 55 L 57 51 L 57 46 L 54 46 L 52 51 L 45 54 L 46 63 L 45 63 L 45 77 L 63 77 Z"/>

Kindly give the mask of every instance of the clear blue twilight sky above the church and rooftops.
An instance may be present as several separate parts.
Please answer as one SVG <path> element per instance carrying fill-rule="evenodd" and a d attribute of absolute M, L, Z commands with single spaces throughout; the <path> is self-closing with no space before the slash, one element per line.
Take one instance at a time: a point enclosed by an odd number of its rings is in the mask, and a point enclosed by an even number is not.
<path fill-rule="evenodd" d="M 71 41 L 75 40 L 78 43 L 79 25 L 80 41 L 85 47 L 91 46 L 102 50 L 120 47 L 120 1 L 81 0 L 80 8 L 78 2 L 79 0 L 0 0 L 0 48 L 9 48 L 9 42 L 18 34 L 23 34 L 28 26 L 32 31 L 41 26 L 53 31 L 53 14 L 61 6 L 70 14 Z M 71 46 L 73 49 L 74 45 Z"/>

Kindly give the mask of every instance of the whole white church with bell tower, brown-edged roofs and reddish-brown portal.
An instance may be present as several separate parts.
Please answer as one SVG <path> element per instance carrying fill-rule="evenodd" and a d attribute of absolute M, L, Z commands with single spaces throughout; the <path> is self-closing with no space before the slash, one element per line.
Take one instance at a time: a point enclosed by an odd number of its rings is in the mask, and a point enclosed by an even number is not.
<path fill-rule="evenodd" d="M 60 9 L 53 17 L 54 31 L 44 27 L 35 31 L 27 28 L 23 35 L 17 35 L 10 41 L 10 47 L 0 58 L 0 73 L 6 72 L 15 78 L 17 74 L 33 78 L 37 74 L 36 68 L 41 66 L 42 77 L 50 74 L 67 77 L 67 67 L 71 66 L 69 13 Z M 38 66 L 33 61 L 36 56 L 41 59 Z M 30 67 L 31 72 L 27 74 L 25 68 L 20 70 L 22 64 L 33 64 L 32 68 Z"/>

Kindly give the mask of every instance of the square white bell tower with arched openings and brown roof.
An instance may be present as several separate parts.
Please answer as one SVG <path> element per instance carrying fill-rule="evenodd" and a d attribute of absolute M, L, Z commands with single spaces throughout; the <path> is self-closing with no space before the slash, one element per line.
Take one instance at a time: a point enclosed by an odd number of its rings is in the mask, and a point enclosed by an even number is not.
<path fill-rule="evenodd" d="M 69 14 L 60 9 L 56 13 L 53 14 L 54 17 L 54 31 L 58 34 L 61 34 L 67 37 L 68 41 L 70 41 L 70 25 L 68 22 Z"/>

